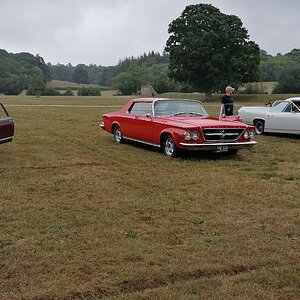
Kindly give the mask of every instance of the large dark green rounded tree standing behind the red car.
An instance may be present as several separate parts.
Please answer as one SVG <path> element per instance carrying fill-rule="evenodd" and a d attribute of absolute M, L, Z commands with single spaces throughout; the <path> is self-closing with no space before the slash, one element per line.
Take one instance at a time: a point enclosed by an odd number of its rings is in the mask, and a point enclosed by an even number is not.
<path fill-rule="evenodd" d="M 169 75 L 205 92 L 259 79 L 259 47 L 242 21 L 210 4 L 187 6 L 169 25 Z"/>

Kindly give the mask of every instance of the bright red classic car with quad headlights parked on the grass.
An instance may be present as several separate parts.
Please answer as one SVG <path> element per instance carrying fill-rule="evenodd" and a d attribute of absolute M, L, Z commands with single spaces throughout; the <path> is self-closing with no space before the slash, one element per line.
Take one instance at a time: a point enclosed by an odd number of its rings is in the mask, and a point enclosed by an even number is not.
<path fill-rule="evenodd" d="M 117 143 L 132 140 L 153 145 L 169 157 L 180 149 L 235 154 L 256 144 L 254 126 L 238 117 L 210 117 L 198 100 L 132 99 L 119 111 L 104 114 L 100 127 L 112 133 Z"/>

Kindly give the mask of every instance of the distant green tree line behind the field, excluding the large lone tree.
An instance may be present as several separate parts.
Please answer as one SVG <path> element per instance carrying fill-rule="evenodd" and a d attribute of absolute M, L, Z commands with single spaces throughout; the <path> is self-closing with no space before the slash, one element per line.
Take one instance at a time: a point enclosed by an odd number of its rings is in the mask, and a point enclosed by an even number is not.
<path fill-rule="evenodd" d="M 170 78 L 169 59 L 167 53 L 149 52 L 120 60 L 116 66 L 51 65 L 39 55 L 12 54 L 0 49 L 0 93 L 17 95 L 37 82 L 43 85 L 52 79 L 97 84 L 125 95 L 135 94 L 148 84 L 158 93 L 195 91 L 193 86 Z M 260 81 L 277 82 L 274 93 L 300 93 L 300 49 L 274 56 L 260 50 L 259 72 Z"/>

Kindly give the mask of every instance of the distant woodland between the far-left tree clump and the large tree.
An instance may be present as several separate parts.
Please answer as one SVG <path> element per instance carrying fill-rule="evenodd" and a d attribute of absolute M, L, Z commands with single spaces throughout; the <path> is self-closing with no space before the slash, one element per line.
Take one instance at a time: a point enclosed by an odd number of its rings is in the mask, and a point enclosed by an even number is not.
<path fill-rule="evenodd" d="M 136 93 L 142 85 L 153 85 L 158 92 L 175 88 L 168 77 L 169 55 L 150 51 L 138 57 L 126 57 L 115 66 L 95 64 L 77 66 L 48 64 L 53 79 L 75 83 L 98 84 L 120 90 L 122 94 Z"/>

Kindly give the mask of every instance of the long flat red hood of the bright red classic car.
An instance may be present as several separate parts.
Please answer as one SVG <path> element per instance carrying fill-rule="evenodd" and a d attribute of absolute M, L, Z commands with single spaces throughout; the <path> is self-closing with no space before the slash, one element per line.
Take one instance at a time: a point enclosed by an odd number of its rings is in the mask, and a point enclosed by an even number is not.
<path fill-rule="evenodd" d="M 247 125 L 235 120 L 224 120 L 212 117 L 191 117 L 191 116 L 171 116 L 161 118 L 163 123 L 167 123 L 172 126 L 181 127 L 200 127 L 200 128 L 246 128 Z"/>

